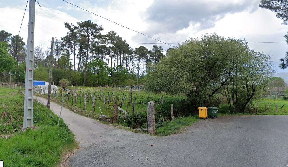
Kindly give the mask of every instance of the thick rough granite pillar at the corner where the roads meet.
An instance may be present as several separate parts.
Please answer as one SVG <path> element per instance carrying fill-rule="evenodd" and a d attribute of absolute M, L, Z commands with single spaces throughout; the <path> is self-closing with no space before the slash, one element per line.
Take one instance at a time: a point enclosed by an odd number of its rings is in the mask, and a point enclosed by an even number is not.
<path fill-rule="evenodd" d="M 147 129 L 150 134 L 156 133 L 154 102 L 149 102 L 147 106 Z"/>

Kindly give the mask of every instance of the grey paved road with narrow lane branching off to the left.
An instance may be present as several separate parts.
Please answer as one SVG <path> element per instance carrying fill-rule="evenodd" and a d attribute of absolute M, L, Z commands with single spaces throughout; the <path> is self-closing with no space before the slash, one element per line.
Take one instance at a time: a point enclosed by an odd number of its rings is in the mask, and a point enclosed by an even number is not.
<path fill-rule="evenodd" d="M 60 107 L 51 102 L 55 113 Z M 288 165 L 288 116 L 217 117 L 166 137 L 117 129 L 67 109 L 62 116 L 82 148 L 69 166 Z"/>

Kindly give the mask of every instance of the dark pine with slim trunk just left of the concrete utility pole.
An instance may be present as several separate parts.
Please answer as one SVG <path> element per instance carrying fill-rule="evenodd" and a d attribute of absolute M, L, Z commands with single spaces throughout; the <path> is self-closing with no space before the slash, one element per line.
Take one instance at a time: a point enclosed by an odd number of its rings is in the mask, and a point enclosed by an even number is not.
<path fill-rule="evenodd" d="M 23 38 L 19 35 L 15 35 L 11 38 L 10 43 L 10 53 L 16 59 L 16 82 L 18 82 L 18 63 L 19 58 L 23 57 L 25 60 L 26 54 L 25 54 L 25 42 L 23 42 Z"/>

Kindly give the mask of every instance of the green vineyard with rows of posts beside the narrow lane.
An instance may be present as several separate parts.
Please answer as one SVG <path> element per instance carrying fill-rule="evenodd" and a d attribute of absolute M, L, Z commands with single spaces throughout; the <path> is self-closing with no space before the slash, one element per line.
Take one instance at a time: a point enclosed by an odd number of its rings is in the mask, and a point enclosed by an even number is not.
<path fill-rule="evenodd" d="M 34 90 L 34 93 L 46 96 L 47 90 L 42 88 Z M 171 119 L 171 104 L 174 106 L 176 117 L 187 115 L 189 109 L 185 95 L 152 93 L 124 87 L 67 87 L 63 90 L 52 90 L 51 99 L 59 103 L 63 102 L 73 110 L 80 109 L 82 115 L 92 118 L 97 118 L 99 115 L 112 118 L 117 102 L 118 123 L 131 128 L 145 127 L 149 101 L 155 101 L 155 121 L 158 127 L 161 127 L 164 121 Z"/>

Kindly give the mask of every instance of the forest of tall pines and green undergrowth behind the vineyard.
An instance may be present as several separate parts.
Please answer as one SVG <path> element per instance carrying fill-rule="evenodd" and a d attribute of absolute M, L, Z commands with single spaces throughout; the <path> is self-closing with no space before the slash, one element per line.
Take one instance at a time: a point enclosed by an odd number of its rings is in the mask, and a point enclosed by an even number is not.
<path fill-rule="evenodd" d="M 103 27 L 91 20 L 65 22 L 68 33 L 54 40 L 52 82 L 58 85 L 66 78 L 74 86 L 129 86 L 142 84 L 149 63 L 157 63 L 164 56 L 161 46 L 129 47 L 126 40 L 110 31 L 102 34 Z M 25 81 L 26 44 L 19 35 L 5 30 L 0 32 L 0 41 L 9 44 L 9 54 L 14 57 L 12 82 Z M 34 80 L 48 80 L 50 47 L 34 48 Z M 9 70 L 3 70 L 3 82 L 7 82 Z"/>

